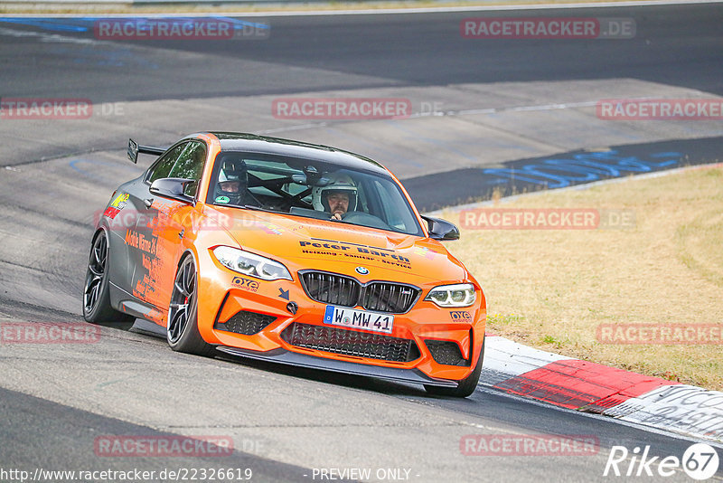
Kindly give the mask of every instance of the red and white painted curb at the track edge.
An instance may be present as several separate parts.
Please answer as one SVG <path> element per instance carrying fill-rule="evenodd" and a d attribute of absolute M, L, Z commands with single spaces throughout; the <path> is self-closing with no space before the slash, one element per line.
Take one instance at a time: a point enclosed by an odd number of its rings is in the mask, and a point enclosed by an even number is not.
<path fill-rule="evenodd" d="M 723 442 L 723 393 L 487 335 L 483 384 L 505 393 Z"/>

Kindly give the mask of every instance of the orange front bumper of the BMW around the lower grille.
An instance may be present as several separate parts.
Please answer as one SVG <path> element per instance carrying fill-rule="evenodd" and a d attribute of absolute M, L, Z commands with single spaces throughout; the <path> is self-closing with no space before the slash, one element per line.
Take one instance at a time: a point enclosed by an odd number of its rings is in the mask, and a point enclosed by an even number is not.
<path fill-rule="evenodd" d="M 247 280 L 239 281 L 236 275 L 218 266 L 214 260 L 202 260 L 202 266 L 203 261 L 216 265 L 219 270 L 200 272 L 199 332 L 207 343 L 227 354 L 346 374 L 454 387 L 474 370 L 482 349 L 486 315 L 484 296 L 464 310 L 438 308 L 420 298 L 407 313 L 394 314 L 394 327 L 389 335 L 347 331 L 344 327 L 324 324 L 326 304 L 309 298 L 298 279 L 258 280 L 249 285 L 249 278 L 242 277 Z M 234 279 L 237 279 L 235 283 Z M 289 310 L 291 303 L 296 304 L 296 310 Z M 464 312 L 465 317 L 460 317 L 460 312 Z M 247 313 L 251 314 L 249 320 L 243 317 Z M 254 315 L 258 315 L 255 320 Z M 316 341 L 299 344 L 297 339 L 289 336 L 294 329 L 292 325 L 303 326 L 306 330 L 318 328 L 327 345 Z M 369 336 L 368 343 L 378 346 L 367 350 L 356 344 L 349 349 L 347 340 L 338 343 L 339 331 Z M 380 348 L 383 344 L 396 345 L 399 340 L 411 343 L 406 357 L 387 356 L 388 353 L 404 355 L 403 346 L 393 346 L 390 350 Z M 440 357 L 436 352 L 436 360 L 432 354 L 436 348 L 430 350 L 434 344 L 427 346 L 429 341 L 442 342 L 447 348 L 454 346 L 459 356 L 456 359 Z"/>

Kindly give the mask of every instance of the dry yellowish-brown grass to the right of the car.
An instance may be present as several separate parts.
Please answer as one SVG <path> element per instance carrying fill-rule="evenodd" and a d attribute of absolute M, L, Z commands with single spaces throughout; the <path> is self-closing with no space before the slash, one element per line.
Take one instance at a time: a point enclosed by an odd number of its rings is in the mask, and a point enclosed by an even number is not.
<path fill-rule="evenodd" d="M 517 208 L 632 210 L 635 227 L 465 230 L 448 244 L 482 283 L 488 330 L 529 346 L 723 390 L 723 346 L 610 345 L 600 324 L 723 325 L 723 168 L 525 195 Z M 459 222 L 458 211 L 443 217 Z"/>

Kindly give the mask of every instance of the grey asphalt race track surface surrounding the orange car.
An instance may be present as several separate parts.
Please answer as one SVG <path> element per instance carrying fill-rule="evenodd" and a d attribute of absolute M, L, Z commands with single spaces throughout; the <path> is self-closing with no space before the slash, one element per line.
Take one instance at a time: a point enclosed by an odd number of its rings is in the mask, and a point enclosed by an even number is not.
<path fill-rule="evenodd" d="M 626 18 L 636 33 L 460 35 L 460 21 L 488 15 Z M 648 171 L 720 160 L 719 119 L 603 120 L 596 101 L 723 96 L 721 4 L 238 18 L 270 25 L 270 36 L 110 41 L 96 38 L 94 19 L 0 19 L 3 101 L 93 104 L 88 118 L 0 116 L 0 323 L 82 321 L 95 218 L 115 187 L 151 162 L 127 162 L 128 137 L 166 146 L 222 129 L 343 147 L 390 167 L 424 209 L 484 199 L 495 185 L 512 193 L 617 173 L 540 168 L 586 153 L 614 152 Z M 401 98 L 412 113 L 278 116 L 274 100 L 292 97 Z M 530 175 L 510 182 L 510 169 Z M 232 468 L 252 469 L 252 481 L 283 482 L 323 480 L 321 469 L 327 477 L 371 469 L 375 481 L 602 481 L 625 478 L 603 476 L 614 445 L 680 458 L 694 442 L 511 397 L 485 386 L 484 373 L 465 400 L 430 397 L 412 385 L 177 354 L 137 324 L 102 327 L 95 344 L 0 344 L 0 361 L 0 469 L 31 475 Z M 531 433 L 593 435 L 599 450 L 481 457 L 460 448 L 469 434 Z M 108 435 L 212 436 L 232 440 L 233 450 L 113 458 L 97 447 Z M 714 478 L 723 480 L 723 469 Z M 690 480 L 681 470 L 664 479 Z"/>

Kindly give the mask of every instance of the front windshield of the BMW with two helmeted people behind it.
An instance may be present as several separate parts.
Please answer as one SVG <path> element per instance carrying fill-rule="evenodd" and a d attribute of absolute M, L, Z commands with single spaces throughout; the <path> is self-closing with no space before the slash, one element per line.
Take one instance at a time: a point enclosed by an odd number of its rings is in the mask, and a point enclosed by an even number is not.
<path fill-rule="evenodd" d="M 423 235 L 390 175 L 310 159 L 221 152 L 207 203 Z"/>

